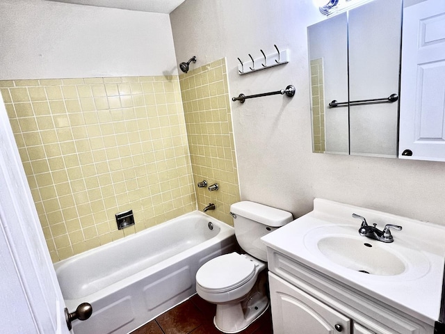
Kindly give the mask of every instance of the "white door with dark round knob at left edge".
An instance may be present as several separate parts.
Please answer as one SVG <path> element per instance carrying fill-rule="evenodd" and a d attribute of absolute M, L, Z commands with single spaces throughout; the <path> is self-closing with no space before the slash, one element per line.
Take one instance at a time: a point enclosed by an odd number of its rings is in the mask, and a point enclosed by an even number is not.
<path fill-rule="evenodd" d="M 0 252 L 0 333 L 70 333 L 65 303 L 1 95 Z"/>

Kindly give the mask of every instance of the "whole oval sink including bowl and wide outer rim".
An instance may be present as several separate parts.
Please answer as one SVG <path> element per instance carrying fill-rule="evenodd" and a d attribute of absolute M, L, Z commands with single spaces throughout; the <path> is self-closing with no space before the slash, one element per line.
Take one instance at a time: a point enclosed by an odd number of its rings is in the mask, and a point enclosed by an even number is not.
<path fill-rule="evenodd" d="M 430 262 L 414 245 L 394 237 L 394 242 L 361 237 L 350 225 L 313 228 L 305 234 L 309 253 L 337 273 L 353 271 L 378 280 L 414 280 L 428 273 Z"/>

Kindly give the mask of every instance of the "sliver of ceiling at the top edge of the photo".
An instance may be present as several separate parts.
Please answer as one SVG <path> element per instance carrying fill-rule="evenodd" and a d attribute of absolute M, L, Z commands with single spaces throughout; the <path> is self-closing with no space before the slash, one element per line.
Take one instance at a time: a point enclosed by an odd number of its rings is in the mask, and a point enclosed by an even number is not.
<path fill-rule="evenodd" d="M 47 0 L 78 5 L 138 10 L 141 12 L 170 14 L 185 0 Z"/>

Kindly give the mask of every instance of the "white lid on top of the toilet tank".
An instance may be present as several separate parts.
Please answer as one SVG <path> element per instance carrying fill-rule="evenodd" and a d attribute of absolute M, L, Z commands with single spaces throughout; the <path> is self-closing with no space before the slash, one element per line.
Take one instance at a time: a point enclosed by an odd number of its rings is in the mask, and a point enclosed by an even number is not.
<path fill-rule="evenodd" d="M 273 228 L 278 228 L 293 221 L 293 216 L 290 212 L 248 200 L 230 205 L 230 212 Z"/>

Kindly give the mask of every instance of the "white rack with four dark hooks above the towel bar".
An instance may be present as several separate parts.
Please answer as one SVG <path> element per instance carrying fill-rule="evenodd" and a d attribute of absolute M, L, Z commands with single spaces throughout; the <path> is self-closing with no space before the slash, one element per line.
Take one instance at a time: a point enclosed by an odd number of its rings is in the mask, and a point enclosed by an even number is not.
<path fill-rule="evenodd" d="M 266 55 L 264 51 L 260 49 L 259 51 L 262 56 L 259 58 L 253 58 L 252 54 L 248 54 L 250 61 L 243 62 L 238 57 L 240 63 L 240 65 L 238 65 L 238 74 L 248 74 L 250 72 L 264 70 L 268 67 L 289 63 L 289 49 L 280 51 L 277 45 L 274 44 L 273 46 L 275 47 L 275 50 L 277 50 L 273 54 Z"/>

